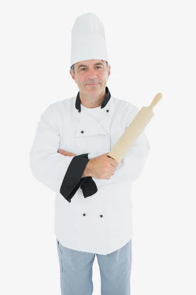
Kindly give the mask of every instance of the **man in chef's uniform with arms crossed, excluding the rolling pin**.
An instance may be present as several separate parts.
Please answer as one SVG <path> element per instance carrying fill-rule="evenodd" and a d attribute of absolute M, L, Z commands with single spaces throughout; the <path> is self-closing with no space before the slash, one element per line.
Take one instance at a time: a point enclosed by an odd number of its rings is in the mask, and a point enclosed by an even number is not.
<path fill-rule="evenodd" d="M 131 188 L 150 146 L 143 131 L 121 162 L 108 156 L 139 109 L 106 86 L 104 27 L 93 13 L 74 22 L 70 74 L 77 95 L 47 107 L 30 151 L 33 176 L 56 193 L 61 294 L 93 294 L 97 255 L 101 295 L 130 295 Z"/>

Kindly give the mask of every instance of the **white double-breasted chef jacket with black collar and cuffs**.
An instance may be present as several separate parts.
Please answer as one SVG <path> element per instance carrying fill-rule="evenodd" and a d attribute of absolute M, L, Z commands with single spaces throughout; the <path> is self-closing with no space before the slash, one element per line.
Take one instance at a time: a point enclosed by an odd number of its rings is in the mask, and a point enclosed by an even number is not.
<path fill-rule="evenodd" d="M 30 150 L 33 176 L 56 193 L 54 233 L 70 249 L 107 255 L 132 237 L 132 182 L 142 173 L 150 146 L 145 131 L 110 179 L 82 177 L 88 161 L 109 152 L 139 109 L 111 96 L 88 109 L 77 96 L 50 104 Z M 61 148 L 77 156 L 64 156 Z M 82 177 L 82 178 L 81 178 Z"/>

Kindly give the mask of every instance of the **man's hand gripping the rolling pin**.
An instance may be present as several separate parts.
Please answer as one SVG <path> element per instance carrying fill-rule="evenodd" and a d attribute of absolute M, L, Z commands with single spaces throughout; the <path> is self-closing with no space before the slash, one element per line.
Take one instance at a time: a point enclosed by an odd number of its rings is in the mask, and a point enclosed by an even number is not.
<path fill-rule="evenodd" d="M 89 160 L 87 165 L 91 171 L 91 177 L 110 179 L 110 177 L 114 175 L 119 162 L 107 157 L 108 153 L 109 152 Z"/>

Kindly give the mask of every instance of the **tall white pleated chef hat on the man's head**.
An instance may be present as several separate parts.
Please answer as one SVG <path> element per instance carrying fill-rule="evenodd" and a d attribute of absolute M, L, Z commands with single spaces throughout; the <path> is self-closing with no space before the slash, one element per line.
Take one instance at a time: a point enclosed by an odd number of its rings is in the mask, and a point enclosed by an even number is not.
<path fill-rule="evenodd" d="M 74 22 L 71 66 L 88 59 L 102 59 L 108 62 L 103 24 L 91 12 L 78 16 Z"/>

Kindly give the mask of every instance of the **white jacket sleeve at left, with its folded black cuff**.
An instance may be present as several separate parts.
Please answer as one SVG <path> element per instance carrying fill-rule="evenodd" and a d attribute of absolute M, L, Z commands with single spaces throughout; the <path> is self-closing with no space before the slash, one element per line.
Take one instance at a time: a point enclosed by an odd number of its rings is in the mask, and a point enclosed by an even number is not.
<path fill-rule="evenodd" d="M 58 153 L 60 135 L 52 105 L 41 115 L 29 153 L 33 176 L 70 203 L 87 177 L 82 177 L 88 157 Z M 81 178 L 82 177 L 82 178 Z"/>

